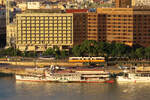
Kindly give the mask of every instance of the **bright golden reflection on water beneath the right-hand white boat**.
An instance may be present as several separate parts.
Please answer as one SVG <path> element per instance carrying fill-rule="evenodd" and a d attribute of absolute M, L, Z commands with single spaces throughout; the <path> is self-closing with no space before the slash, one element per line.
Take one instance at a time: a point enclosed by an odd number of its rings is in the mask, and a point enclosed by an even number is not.
<path fill-rule="evenodd" d="M 122 83 L 117 84 L 121 99 L 126 100 L 149 100 L 150 83 Z"/>

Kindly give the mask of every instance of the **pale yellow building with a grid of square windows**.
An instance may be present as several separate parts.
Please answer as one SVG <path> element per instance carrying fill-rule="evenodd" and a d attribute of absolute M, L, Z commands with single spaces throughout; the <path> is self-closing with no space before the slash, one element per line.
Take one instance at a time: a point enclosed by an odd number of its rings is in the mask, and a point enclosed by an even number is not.
<path fill-rule="evenodd" d="M 21 51 L 68 48 L 73 45 L 73 14 L 17 14 L 16 31 L 16 47 Z"/>

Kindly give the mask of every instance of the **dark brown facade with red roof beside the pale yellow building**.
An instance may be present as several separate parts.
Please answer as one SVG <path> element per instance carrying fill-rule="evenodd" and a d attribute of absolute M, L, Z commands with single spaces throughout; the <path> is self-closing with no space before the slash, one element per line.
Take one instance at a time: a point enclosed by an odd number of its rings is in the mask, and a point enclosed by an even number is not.
<path fill-rule="evenodd" d="M 66 13 L 73 13 L 73 45 L 81 44 L 88 35 L 88 9 L 66 9 Z"/>

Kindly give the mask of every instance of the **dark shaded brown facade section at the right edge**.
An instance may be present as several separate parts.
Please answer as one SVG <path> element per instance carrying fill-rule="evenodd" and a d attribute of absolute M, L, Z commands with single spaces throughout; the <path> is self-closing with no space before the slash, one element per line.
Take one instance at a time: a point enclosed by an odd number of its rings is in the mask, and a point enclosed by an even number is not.
<path fill-rule="evenodd" d="M 150 46 L 150 9 L 133 9 L 133 39 L 135 44 Z"/>

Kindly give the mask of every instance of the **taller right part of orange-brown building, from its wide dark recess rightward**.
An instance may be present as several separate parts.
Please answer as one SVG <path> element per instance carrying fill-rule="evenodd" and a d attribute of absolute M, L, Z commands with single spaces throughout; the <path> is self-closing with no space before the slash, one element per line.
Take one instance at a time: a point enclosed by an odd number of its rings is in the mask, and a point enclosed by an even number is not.
<path fill-rule="evenodd" d="M 97 14 L 99 40 L 150 46 L 150 9 L 98 8 Z"/>

